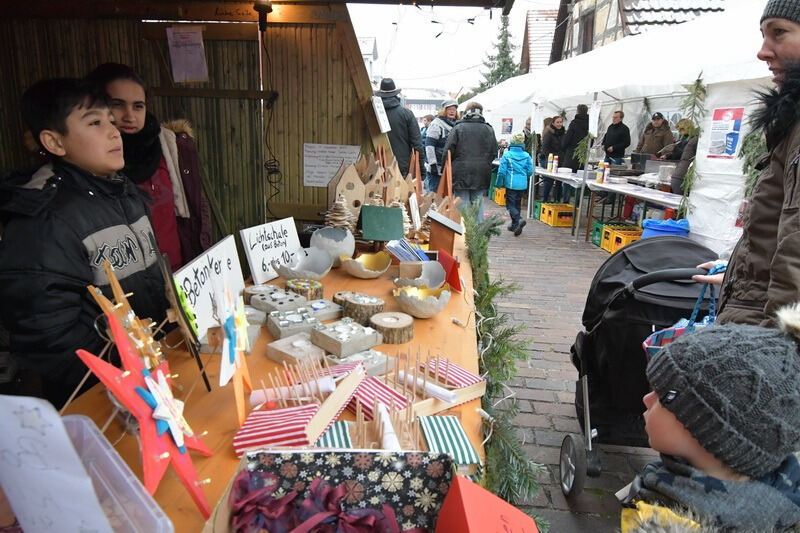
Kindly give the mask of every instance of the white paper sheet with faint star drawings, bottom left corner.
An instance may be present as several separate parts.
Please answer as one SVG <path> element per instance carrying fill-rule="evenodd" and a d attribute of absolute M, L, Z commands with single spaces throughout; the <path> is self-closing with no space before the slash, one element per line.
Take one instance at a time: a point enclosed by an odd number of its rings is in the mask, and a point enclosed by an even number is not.
<path fill-rule="evenodd" d="M 53 406 L 0 396 L 0 485 L 25 531 L 112 531 Z"/>

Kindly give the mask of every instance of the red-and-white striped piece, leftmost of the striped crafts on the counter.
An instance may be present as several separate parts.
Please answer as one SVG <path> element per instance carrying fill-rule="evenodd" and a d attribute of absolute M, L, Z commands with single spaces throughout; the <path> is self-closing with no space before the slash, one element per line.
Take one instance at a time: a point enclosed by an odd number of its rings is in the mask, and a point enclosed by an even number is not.
<path fill-rule="evenodd" d="M 308 446 L 306 426 L 319 410 L 319 404 L 253 411 L 233 437 L 233 449 L 241 457 L 250 448 Z"/>

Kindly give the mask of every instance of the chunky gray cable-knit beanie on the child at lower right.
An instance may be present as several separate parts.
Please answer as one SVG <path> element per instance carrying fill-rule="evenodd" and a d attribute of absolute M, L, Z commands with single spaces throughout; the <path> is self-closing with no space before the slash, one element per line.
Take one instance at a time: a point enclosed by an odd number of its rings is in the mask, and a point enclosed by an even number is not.
<path fill-rule="evenodd" d="M 800 354 L 791 334 L 703 328 L 655 355 L 647 379 L 703 448 L 739 473 L 761 477 L 800 450 Z"/>

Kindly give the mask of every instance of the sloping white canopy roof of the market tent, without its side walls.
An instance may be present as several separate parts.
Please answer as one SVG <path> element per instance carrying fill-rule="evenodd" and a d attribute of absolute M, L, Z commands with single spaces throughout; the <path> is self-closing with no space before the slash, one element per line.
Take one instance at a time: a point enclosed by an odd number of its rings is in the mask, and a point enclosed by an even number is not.
<path fill-rule="evenodd" d="M 602 102 L 685 92 L 702 74 L 706 85 L 768 77 L 756 58 L 766 0 L 729 0 L 725 11 L 653 29 L 517 76 L 470 100 L 505 105 L 549 103 L 571 108 L 597 92 Z"/>

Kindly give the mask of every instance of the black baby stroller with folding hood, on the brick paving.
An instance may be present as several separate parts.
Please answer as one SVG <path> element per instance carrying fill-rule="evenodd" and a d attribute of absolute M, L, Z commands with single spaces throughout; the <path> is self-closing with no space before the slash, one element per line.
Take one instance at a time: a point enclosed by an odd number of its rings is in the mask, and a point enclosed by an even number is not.
<path fill-rule="evenodd" d="M 593 443 L 648 445 L 642 396 L 650 389 L 642 342 L 691 314 L 701 287 L 691 277 L 706 273 L 694 267 L 716 258 L 684 237 L 653 237 L 623 248 L 598 269 L 583 311 L 585 331 L 571 348 L 580 376 L 575 410 L 584 436 L 567 435 L 561 444 L 566 496 L 580 493 L 587 475 L 600 475 Z M 708 298 L 700 309 L 702 317 Z"/>

